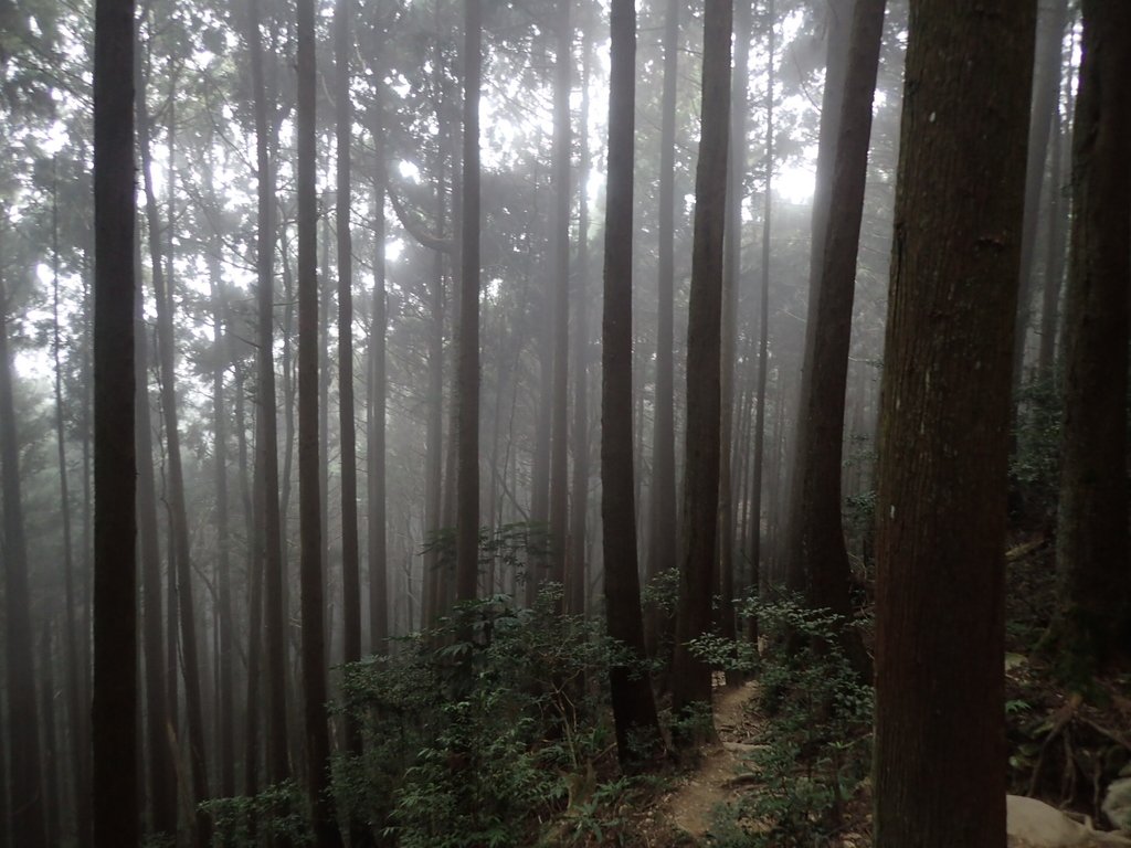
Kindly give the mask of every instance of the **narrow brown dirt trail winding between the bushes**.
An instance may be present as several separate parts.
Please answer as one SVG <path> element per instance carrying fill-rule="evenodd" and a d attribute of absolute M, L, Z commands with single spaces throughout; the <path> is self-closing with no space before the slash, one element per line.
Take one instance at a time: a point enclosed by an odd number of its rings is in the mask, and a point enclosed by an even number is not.
<path fill-rule="evenodd" d="M 736 689 L 715 690 L 715 727 L 718 743 L 703 749 L 702 761 L 656 810 L 656 817 L 699 843 L 707 834 L 716 806 L 734 797 L 733 780 L 756 742 L 758 719 L 746 711 L 757 693 L 751 682 Z"/>

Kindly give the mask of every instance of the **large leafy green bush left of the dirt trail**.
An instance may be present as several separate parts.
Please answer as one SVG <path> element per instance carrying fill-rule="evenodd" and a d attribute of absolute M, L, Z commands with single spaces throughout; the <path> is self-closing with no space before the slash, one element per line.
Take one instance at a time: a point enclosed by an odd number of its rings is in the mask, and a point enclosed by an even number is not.
<path fill-rule="evenodd" d="M 559 845 L 608 839 L 618 825 L 603 811 L 623 787 L 596 778 L 613 734 L 594 683 L 615 649 L 554 613 L 560 597 L 476 602 L 347 667 L 343 709 L 365 749 L 336 763 L 342 812 L 405 848 L 534 845 L 550 821 Z"/>

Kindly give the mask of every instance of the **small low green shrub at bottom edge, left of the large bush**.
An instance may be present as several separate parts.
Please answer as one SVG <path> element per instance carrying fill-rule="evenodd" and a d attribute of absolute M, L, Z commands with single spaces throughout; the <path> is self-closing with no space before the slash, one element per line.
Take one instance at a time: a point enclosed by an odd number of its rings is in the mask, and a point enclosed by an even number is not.
<path fill-rule="evenodd" d="M 254 848 L 264 838 L 292 846 L 313 842 L 305 795 L 294 780 L 252 797 L 214 798 L 200 806 L 213 819 L 214 846 Z"/>

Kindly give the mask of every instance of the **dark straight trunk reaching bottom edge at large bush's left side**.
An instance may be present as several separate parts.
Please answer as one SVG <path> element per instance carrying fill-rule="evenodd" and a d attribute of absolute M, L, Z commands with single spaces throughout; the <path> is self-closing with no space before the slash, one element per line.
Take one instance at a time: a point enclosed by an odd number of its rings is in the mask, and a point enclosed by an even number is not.
<path fill-rule="evenodd" d="M 318 433 L 318 198 L 314 133 L 314 3 L 297 11 L 297 191 L 299 191 L 299 533 L 302 589 L 302 692 L 307 741 L 307 793 L 314 842 L 337 848 L 342 834 L 330 785 L 330 736 L 326 716 L 326 635 L 322 590 L 322 517 Z"/>

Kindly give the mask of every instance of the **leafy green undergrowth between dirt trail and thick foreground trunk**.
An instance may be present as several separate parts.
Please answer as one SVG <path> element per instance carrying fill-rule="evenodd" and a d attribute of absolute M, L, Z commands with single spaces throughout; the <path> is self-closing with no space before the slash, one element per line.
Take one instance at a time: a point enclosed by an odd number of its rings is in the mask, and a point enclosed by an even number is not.
<path fill-rule="evenodd" d="M 846 622 L 800 598 L 748 602 L 775 650 L 760 661 L 761 710 L 769 724 L 750 755 L 757 788 L 720 813 L 715 843 L 748 848 L 824 845 L 871 768 L 872 690 L 838 647 Z M 709 650 L 716 654 L 718 646 Z"/>

